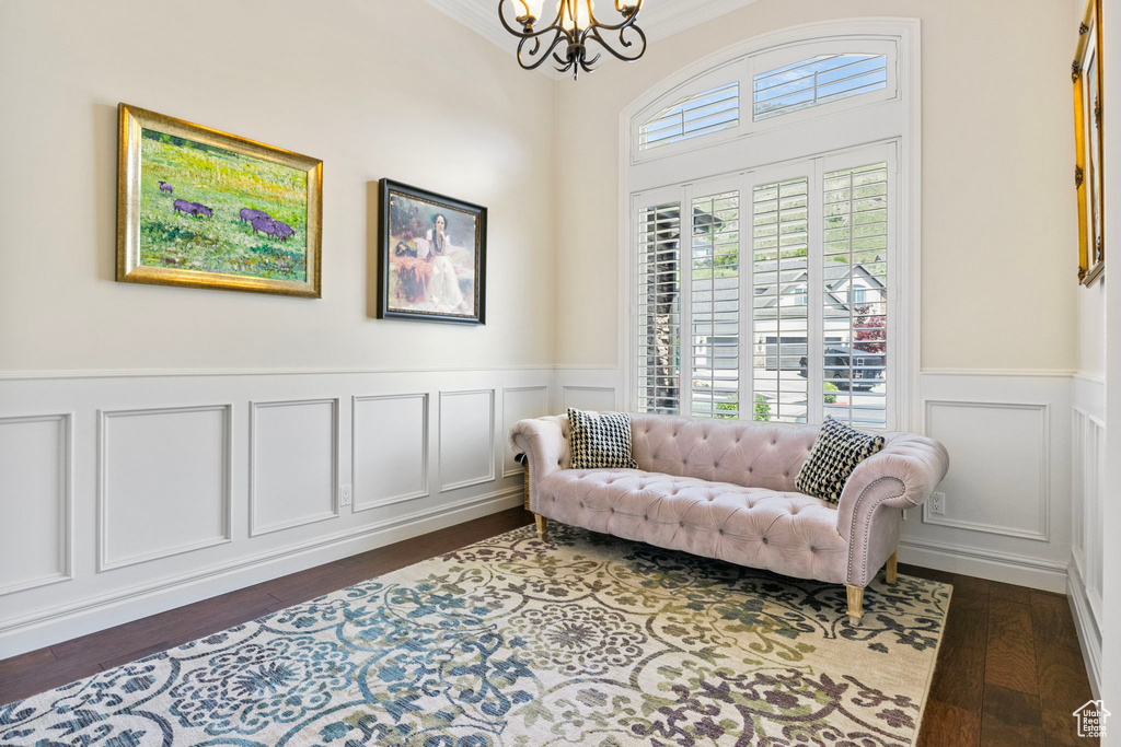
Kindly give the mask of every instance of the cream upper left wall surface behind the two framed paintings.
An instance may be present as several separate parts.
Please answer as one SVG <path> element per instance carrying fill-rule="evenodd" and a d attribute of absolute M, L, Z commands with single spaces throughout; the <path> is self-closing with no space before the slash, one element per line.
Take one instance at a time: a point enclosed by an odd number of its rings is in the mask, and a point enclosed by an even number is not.
<path fill-rule="evenodd" d="M 553 82 L 423 2 L 0 13 L 0 370 L 552 363 Z M 323 299 L 115 283 L 121 101 L 323 159 Z M 485 327 L 372 318 L 381 177 L 490 208 Z"/>

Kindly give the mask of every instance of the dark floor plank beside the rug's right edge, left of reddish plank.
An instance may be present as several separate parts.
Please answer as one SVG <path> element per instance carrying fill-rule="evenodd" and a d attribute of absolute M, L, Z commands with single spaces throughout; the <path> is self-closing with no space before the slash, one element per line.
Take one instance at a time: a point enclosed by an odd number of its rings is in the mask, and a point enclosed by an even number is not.
<path fill-rule="evenodd" d="M 930 698 L 975 713 L 984 699 L 989 613 L 949 603 L 946 631 L 930 684 Z"/>

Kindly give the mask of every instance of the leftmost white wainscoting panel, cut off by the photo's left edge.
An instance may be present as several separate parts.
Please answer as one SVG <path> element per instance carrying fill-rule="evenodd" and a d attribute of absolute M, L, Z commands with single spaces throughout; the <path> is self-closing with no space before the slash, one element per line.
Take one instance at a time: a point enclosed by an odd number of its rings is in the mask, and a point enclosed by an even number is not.
<path fill-rule="evenodd" d="M 71 419 L 0 418 L 0 596 L 71 577 Z"/>

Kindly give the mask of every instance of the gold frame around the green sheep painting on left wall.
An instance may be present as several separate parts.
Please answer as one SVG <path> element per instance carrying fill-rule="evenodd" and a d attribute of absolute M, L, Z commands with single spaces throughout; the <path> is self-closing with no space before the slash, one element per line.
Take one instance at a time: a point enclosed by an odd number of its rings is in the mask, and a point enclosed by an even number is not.
<path fill-rule="evenodd" d="M 191 288 L 210 288 L 216 290 L 240 290 L 257 293 L 276 293 L 280 296 L 300 296 L 305 298 L 321 298 L 322 280 L 321 251 L 323 243 L 323 161 L 300 156 L 288 150 L 266 146 L 265 143 L 239 138 L 238 136 L 213 130 L 200 124 L 192 124 L 172 116 L 158 114 L 137 106 L 120 104 L 120 129 L 118 142 L 118 165 L 117 165 L 117 280 L 120 282 L 139 282 L 157 286 L 186 286 Z M 176 267 L 170 261 L 168 265 L 155 264 L 150 261 L 145 263 L 141 241 L 141 184 L 143 180 L 143 157 L 141 152 L 143 131 L 151 131 L 179 141 L 192 141 L 202 143 L 202 147 L 232 151 L 247 159 L 262 161 L 270 165 L 279 165 L 303 171 L 306 174 L 307 189 L 303 198 L 303 206 L 306 208 L 303 225 L 296 225 L 306 232 L 304 254 L 303 280 L 254 276 L 252 272 L 237 273 L 223 271 L 206 271 L 200 269 L 184 269 Z M 180 142 L 182 144 L 182 142 Z M 150 177 L 148 179 L 150 181 Z M 165 183 L 157 187 L 159 197 L 164 198 Z M 151 185 L 148 185 L 151 192 Z M 180 190 L 182 192 L 182 190 Z M 174 206 L 170 202 L 177 193 L 168 190 L 166 205 L 160 209 L 169 213 L 174 221 L 178 221 L 184 226 L 191 226 L 192 220 L 197 220 L 198 226 L 205 225 L 209 221 L 237 222 L 242 220 L 237 212 L 225 211 L 220 214 L 219 209 L 210 209 L 205 213 L 196 213 L 194 208 L 205 207 L 201 203 L 183 203 Z M 213 204 L 213 203 L 212 203 Z M 166 209 L 165 209 L 166 208 Z M 248 209 L 248 208 L 247 208 Z M 259 212 L 259 211 L 254 211 Z M 230 214 L 226 214 L 230 213 Z M 262 214 L 263 218 L 271 221 L 269 214 Z M 259 218 L 261 220 L 261 218 Z M 275 233 L 262 233 L 262 243 L 270 240 L 278 248 L 289 246 L 287 239 L 293 235 L 291 226 L 286 223 L 274 221 L 274 226 L 263 226 L 265 231 Z M 280 234 L 276 224 L 284 226 L 285 233 Z M 250 225 L 247 223 L 245 225 Z M 252 236 L 257 239 L 258 226 L 250 226 Z M 187 230 L 193 230 L 189 227 Z M 243 230 L 247 230 L 243 227 Z"/>

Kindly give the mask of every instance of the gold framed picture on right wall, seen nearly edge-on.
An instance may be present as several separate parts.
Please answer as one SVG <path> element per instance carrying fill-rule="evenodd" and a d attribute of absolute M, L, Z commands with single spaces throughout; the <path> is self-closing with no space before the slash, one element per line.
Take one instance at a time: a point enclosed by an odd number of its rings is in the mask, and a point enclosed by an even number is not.
<path fill-rule="evenodd" d="M 1092 286 L 1105 271 L 1101 15 L 1102 0 L 1090 0 L 1071 67 L 1077 151 L 1074 183 L 1078 189 L 1078 282 L 1084 286 Z"/>

